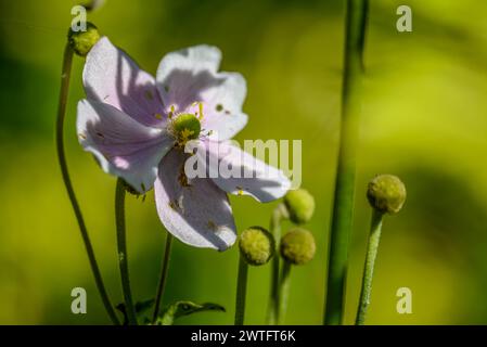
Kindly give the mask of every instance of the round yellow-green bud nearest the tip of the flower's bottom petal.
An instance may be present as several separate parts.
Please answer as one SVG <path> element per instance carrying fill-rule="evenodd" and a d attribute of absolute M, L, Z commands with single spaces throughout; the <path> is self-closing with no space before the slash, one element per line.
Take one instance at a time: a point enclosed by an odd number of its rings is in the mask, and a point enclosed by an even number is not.
<path fill-rule="evenodd" d="M 239 239 L 240 253 L 247 264 L 265 265 L 274 254 L 275 243 L 272 234 L 260 227 L 252 227 L 242 232 Z"/>

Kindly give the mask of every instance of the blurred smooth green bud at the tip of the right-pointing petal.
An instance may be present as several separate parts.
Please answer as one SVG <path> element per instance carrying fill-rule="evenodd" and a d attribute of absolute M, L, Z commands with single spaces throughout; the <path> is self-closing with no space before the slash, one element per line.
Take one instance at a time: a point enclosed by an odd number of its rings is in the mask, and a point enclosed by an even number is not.
<path fill-rule="evenodd" d="M 289 191 L 284 196 L 284 204 L 293 223 L 308 222 L 315 213 L 315 197 L 305 189 Z"/>

